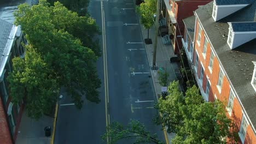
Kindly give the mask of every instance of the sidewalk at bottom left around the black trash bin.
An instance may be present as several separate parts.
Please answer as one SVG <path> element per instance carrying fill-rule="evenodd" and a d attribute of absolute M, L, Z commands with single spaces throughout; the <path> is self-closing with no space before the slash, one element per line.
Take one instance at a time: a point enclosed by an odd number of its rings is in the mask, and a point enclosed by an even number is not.
<path fill-rule="evenodd" d="M 16 144 L 50 144 L 51 137 L 44 135 L 44 127 L 52 128 L 51 136 L 53 135 L 54 118 L 43 116 L 38 121 L 27 117 L 26 110 L 23 112 Z"/>

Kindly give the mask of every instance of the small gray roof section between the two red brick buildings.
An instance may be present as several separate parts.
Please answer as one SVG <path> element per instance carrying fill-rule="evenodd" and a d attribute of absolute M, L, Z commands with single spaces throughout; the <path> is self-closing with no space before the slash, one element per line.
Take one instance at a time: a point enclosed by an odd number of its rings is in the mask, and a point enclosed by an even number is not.
<path fill-rule="evenodd" d="M 194 33 L 195 33 L 195 15 L 190 16 L 186 19 L 183 19 L 185 27 L 187 27 L 187 31 L 189 34 L 189 37 L 192 41 L 194 41 Z"/>

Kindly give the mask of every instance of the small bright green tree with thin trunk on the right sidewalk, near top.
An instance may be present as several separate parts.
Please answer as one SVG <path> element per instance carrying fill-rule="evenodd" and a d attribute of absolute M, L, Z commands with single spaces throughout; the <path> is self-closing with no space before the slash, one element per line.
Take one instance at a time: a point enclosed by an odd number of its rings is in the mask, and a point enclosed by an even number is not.
<path fill-rule="evenodd" d="M 149 39 L 149 28 L 154 25 L 154 14 L 156 11 L 156 0 L 145 0 L 144 3 L 137 7 L 139 15 L 141 15 L 142 25 L 148 29 Z"/>

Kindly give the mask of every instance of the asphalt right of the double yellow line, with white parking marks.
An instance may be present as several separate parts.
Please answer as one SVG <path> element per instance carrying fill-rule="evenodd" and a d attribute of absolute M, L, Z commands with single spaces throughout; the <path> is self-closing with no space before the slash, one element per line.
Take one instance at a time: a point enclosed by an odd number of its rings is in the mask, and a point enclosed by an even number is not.
<path fill-rule="evenodd" d="M 152 118 L 158 115 L 147 53 L 132 0 L 104 2 L 110 122 L 142 122 L 164 141 Z M 120 143 L 132 143 L 129 140 Z"/>

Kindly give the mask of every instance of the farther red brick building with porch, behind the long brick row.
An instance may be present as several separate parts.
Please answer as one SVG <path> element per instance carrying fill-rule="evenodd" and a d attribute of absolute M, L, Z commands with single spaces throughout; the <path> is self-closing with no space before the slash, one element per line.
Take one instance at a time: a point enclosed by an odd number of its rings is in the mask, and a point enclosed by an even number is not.
<path fill-rule="evenodd" d="M 163 2 L 164 1 L 164 2 Z M 174 53 L 179 53 L 182 48 L 181 38 L 184 33 L 183 19 L 194 15 L 193 11 L 199 5 L 205 5 L 212 0 L 163 0 L 161 1 L 161 14 L 165 18 L 168 34 L 173 35 L 171 40 Z"/>

